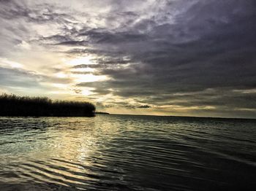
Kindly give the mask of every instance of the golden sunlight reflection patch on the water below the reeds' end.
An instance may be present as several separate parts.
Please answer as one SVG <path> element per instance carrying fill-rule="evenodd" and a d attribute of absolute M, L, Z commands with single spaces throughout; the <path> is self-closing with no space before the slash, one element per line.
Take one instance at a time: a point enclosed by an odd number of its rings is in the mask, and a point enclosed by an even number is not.
<path fill-rule="evenodd" d="M 54 119 L 49 119 L 54 120 Z M 55 119 L 56 120 L 56 119 Z M 88 171 L 76 163 L 91 166 L 91 159 L 101 155 L 101 148 L 106 141 L 111 141 L 113 134 L 117 133 L 118 128 L 113 127 L 110 122 L 102 123 L 102 119 L 94 118 L 65 118 L 60 119 L 61 124 L 67 126 L 59 126 L 59 130 L 49 130 L 46 137 L 48 139 L 47 155 L 42 157 L 61 158 L 54 160 L 56 165 L 64 166 L 66 161 L 72 171 L 85 172 Z M 63 122 L 65 120 L 65 122 Z M 67 163 L 66 163 L 67 165 Z M 61 172 L 64 173 L 64 172 Z"/>

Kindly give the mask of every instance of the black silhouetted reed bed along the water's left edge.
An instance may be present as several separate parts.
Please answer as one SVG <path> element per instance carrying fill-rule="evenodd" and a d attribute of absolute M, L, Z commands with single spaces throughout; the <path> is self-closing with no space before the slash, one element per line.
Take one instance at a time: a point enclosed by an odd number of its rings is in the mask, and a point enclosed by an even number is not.
<path fill-rule="evenodd" d="M 0 116 L 93 117 L 95 106 L 89 102 L 52 101 L 46 97 L 0 95 Z"/>

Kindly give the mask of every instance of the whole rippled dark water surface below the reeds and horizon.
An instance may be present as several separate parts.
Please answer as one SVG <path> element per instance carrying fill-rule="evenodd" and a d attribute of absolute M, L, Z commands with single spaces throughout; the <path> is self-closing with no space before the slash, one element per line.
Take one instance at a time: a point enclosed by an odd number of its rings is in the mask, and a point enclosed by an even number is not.
<path fill-rule="evenodd" d="M 0 117 L 0 190 L 256 190 L 256 121 Z"/>

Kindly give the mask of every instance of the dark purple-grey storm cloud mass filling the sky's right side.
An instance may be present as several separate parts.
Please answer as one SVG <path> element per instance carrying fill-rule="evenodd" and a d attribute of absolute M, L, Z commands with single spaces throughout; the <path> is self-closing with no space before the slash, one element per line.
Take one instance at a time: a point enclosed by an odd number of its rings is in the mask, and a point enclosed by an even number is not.
<path fill-rule="evenodd" d="M 197 1 L 174 23 L 149 23 L 151 30 L 140 34 L 140 40 L 131 36 L 124 42 L 118 36 L 112 39 L 109 34 L 97 34 L 96 39 L 106 39 L 95 41 L 101 43 L 100 47 L 111 44 L 140 64 L 126 69 L 106 69 L 102 64 L 100 74 L 113 80 L 91 86 L 112 87 L 115 95 L 139 96 L 152 104 L 162 100 L 162 105 L 171 105 L 173 101 L 179 106 L 255 109 L 255 93 L 233 92 L 256 87 L 255 8 L 254 1 Z M 141 26 L 143 22 L 140 21 Z M 135 33 L 137 28 L 131 30 Z M 213 91 L 203 93 L 208 88 Z M 156 99 L 151 99 L 154 96 Z"/>

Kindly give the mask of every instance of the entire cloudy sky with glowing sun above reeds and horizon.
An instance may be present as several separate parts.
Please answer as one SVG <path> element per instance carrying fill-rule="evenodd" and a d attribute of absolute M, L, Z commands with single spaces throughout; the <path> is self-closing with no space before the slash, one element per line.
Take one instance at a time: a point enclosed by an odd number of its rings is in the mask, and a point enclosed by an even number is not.
<path fill-rule="evenodd" d="M 0 0 L 0 93 L 256 118 L 255 0 Z"/>

